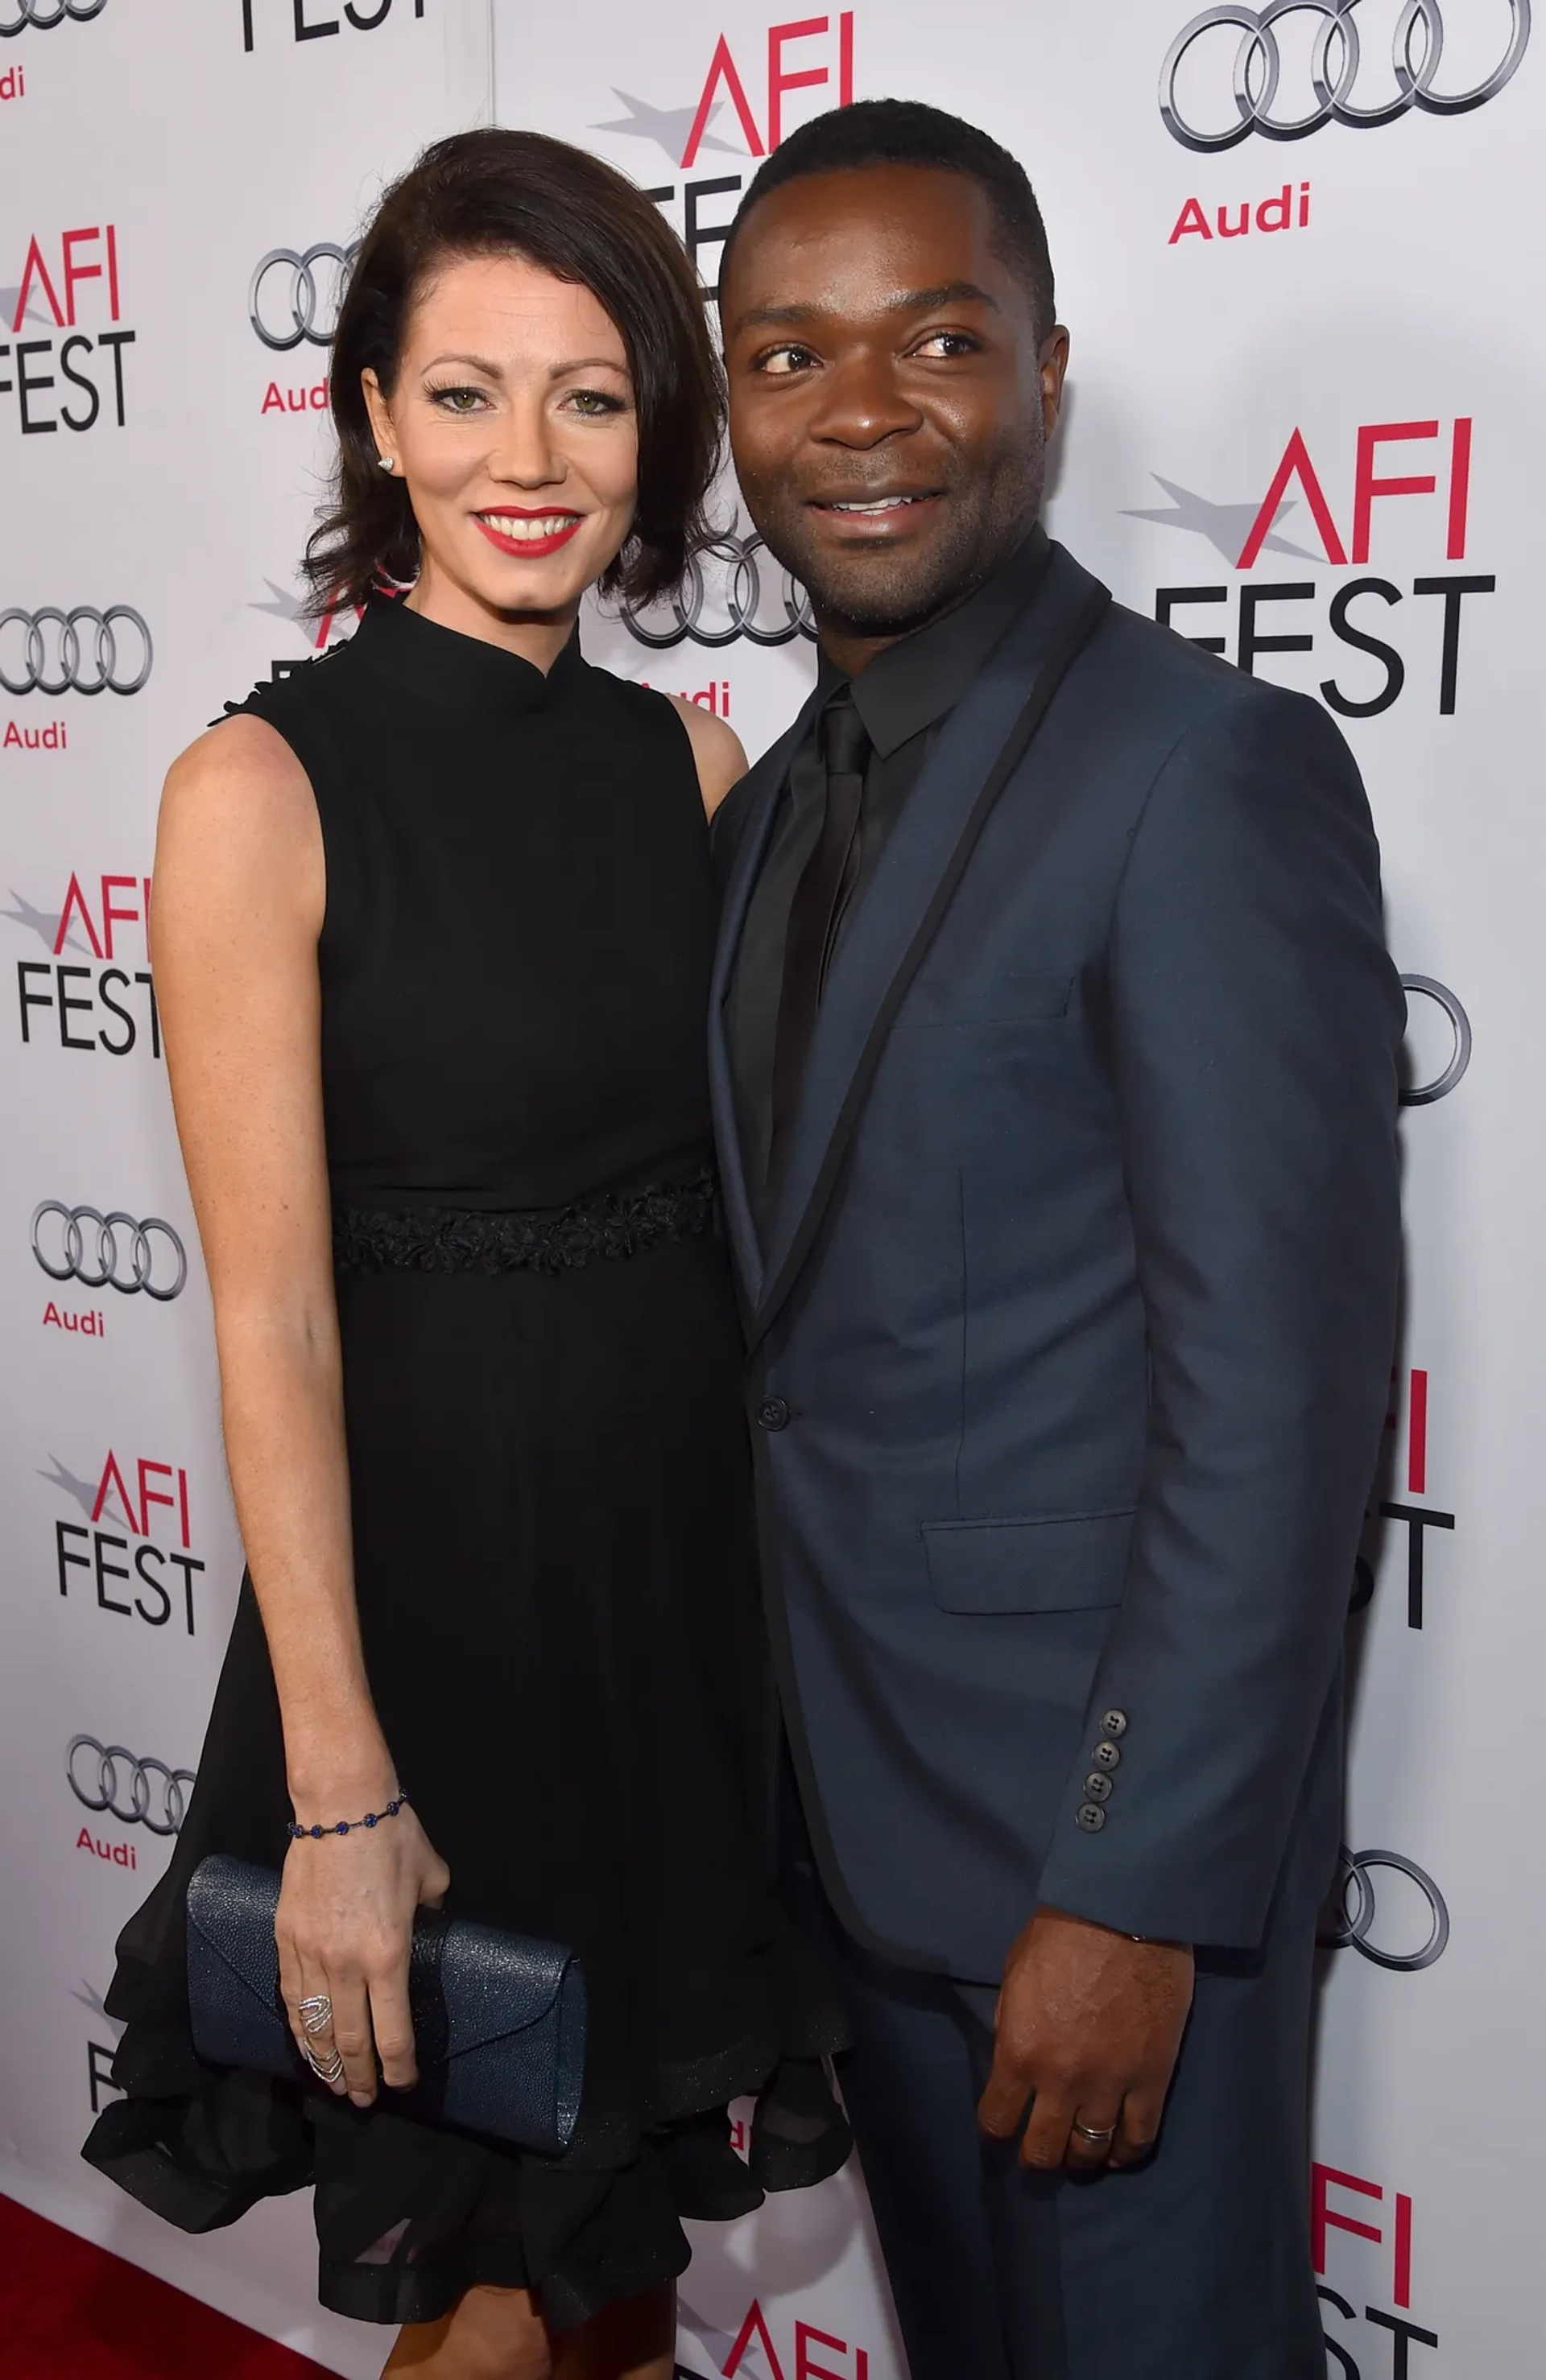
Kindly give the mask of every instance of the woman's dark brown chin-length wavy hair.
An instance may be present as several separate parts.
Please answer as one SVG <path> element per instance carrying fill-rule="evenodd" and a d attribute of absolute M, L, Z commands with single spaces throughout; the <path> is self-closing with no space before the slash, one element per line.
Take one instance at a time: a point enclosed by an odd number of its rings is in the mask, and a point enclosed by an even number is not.
<path fill-rule="evenodd" d="M 364 602 L 381 578 L 419 574 L 419 526 L 403 481 L 381 471 L 360 374 L 372 369 L 391 400 L 424 281 L 448 257 L 491 255 L 522 255 L 560 281 L 584 283 L 629 350 L 638 507 L 603 593 L 631 605 L 667 593 L 707 533 L 722 374 L 703 288 L 674 231 L 631 181 L 567 140 L 453 133 L 426 148 L 376 207 L 338 309 L 333 500 L 303 564 L 317 609 Z"/>

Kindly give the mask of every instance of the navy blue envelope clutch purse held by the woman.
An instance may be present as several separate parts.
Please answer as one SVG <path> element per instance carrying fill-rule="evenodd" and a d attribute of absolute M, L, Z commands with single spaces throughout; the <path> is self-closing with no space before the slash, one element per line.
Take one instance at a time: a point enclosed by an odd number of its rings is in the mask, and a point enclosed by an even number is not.
<path fill-rule="evenodd" d="M 188 2011 L 212 2066 L 307 2078 L 279 1997 L 279 1875 L 200 1859 L 188 1885 Z M 574 1952 L 422 1909 L 407 1999 L 419 2082 L 388 2092 L 410 2116 L 562 2156 L 586 2071 L 586 1983 Z"/>

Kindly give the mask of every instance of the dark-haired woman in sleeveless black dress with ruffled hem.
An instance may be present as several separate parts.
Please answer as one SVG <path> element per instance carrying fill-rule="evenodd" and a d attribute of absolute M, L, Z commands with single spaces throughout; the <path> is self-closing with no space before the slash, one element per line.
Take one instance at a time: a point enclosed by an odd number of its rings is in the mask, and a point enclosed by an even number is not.
<path fill-rule="evenodd" d="M 700 290 L 607 167 L 457 136 L 362 243 L 333 419 L 310 569 L 360 631 L 162 804 L 157 992 L 250 1583 L 119 1942 L 126 2099 L 86 2154 L 188 2230 L 314 2180 L 322 2299 L 405 2325 L 388 2373 L 669 2380 L 679 2218 L 846 2149 L 841 2018 L 769 1885 L 710 1176 L 705 812 L 743 754 L 574 626 L 588 585 L 681 571 L 719 436 Z M 195 1864 L 279 1866 L 291 1818 L 405 1792 L 283 1854 L 317 2087 L 202 2066 Z M 393 2109 L 412 1916 L 445 1892 L 584 1961 L 562 2161 Z"/>

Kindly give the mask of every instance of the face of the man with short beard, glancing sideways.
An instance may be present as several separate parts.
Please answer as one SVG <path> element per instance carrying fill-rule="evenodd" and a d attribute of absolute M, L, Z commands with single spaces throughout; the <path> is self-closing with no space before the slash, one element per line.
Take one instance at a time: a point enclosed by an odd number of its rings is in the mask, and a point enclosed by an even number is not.
<path fill-rule="evenodd" d="M 900 635 L 1020 545 L 1067 338 L 1039 350 L 974 181 L 884 164 L 784 183 L 719 305 L 741 490 L 822 626 Z"/>

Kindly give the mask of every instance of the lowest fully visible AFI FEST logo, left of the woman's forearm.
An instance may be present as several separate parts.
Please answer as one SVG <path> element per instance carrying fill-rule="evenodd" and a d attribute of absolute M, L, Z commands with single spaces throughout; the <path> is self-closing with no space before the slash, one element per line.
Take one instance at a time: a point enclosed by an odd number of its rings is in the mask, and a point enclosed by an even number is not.
<path fill-rule="evenodd" d="M 81 1511 L 55 1521 L 55 1578 L 64 1602 L 86 1602 L 148 1628 L 174 1616 L 195 1633 L 193 1580 L 205 1561 L 193 1552 L 188 1473 L 181 1464 L 110 1447 L 100 1473 L 76 1478 L 57 1454 L 38 1478 Z"/>

